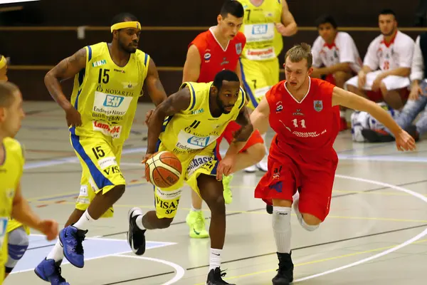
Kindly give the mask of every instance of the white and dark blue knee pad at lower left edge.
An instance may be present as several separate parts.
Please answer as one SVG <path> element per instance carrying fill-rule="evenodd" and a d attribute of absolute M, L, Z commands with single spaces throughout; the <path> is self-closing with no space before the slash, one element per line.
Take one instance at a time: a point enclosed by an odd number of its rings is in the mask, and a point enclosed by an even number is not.
<path fill-rule="evenodd" d="M 16 263 L 23 257 L 28 249 L 28 235 L 23 227 L 19 227 L 9 232 L 8 259 L 4 266 L 6 273 L 10 273 L 16 266 Z"/>

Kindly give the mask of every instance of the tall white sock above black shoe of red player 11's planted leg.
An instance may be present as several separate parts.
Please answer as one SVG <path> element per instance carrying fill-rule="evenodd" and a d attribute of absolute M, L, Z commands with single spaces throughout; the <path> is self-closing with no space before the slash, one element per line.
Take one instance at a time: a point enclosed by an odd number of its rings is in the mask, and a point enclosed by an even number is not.
<path fill-rule="evenodd" d="M 273 207 L 273 233 L 278 252 L 290 253 L 290 207 Z"/>

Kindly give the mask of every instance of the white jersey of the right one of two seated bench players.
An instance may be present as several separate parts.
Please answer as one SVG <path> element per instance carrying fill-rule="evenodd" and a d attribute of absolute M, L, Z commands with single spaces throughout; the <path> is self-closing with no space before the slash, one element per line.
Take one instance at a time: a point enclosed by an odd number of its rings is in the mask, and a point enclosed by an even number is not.
<path fill-rule="evenodd" d="M 396 36 L 388 44 L 384 41 L 383 35 L 377 36 L 369 44 L 363 64 L 369 66 L 372 71 L 411 68 L 413 46 L 413 39 L 401 31 L 397 31 Z"/>

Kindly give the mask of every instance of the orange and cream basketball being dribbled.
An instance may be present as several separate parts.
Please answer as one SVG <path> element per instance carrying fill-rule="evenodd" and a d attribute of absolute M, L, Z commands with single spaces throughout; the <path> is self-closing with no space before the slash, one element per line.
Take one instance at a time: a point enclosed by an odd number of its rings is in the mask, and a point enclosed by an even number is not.
<path fill-rule="evenodd" d="M 178 182 L 182 166 L 173 152 L 156 152 L 145 162 L 145 177 L 159 188 L 171 187 Z"/>

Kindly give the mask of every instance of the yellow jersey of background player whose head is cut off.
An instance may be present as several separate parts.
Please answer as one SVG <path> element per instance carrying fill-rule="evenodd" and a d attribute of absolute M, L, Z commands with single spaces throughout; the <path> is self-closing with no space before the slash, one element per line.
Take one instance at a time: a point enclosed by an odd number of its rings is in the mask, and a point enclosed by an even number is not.
<path fill-rule="evenodd" d="M 242 57 L 251 61 L 267 61 L 276 58 L 283 49 L 282 35 L 275 23 L 282 22 L 280 0 L 264 0 L 255 6 L 251 0 L 238 0 L 245 9 L 241 32 L 246 36 Z"/>

